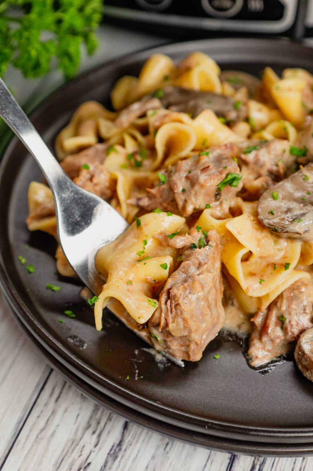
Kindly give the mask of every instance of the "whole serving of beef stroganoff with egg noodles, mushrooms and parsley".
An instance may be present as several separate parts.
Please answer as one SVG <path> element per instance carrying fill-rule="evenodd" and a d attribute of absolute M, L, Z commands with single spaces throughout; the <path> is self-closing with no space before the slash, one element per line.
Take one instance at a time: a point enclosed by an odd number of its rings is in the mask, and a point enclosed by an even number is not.
<path fill-rule="evenodd" d="M 178 359 L 200 360 L 221 329 L 250 335 L 252 366 L 292 351 L 313 327 L 313 76 L 156 54 L 111 102 L 80 105 L 55 142 L 68 176 L 130 224 L 96 257 L 96 328 L 113 303 Z M 57 238 L 50 189 L 32 182 L 28 201 L 29 229 Z M 75 276 L 60 246 L 56 263 Z M 297 348 L 309 379 L 312 355 Z"/>

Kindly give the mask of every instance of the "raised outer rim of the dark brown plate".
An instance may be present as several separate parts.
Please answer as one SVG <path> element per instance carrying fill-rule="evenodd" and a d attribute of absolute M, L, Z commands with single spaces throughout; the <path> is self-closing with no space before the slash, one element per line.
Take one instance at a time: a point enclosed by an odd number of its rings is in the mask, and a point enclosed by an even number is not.
<path fill-rule="evenodd" d="M 190 52 L 191 50 L 195 49 L 203 49 L 205 48 L 206 45 L 209 46 L 216 46 L 219 44 L 220 47 L 224 46 L 224 43 L 229 45 L 229 38 L 225 39 L 209 39 L 209 40 L 199 40 L 199 41 L 186 41 L 186 42 L 178 42 L 178 43 L 170 43 L 170 44 L 162 44 L 153 48 L 148 48 L 148 49 L 141 49 L 139 51 L 135 51 L 132 54 L 127 54 L 124 57 L 118 57 L 117 59 L 105 62 L 101 65 L 98 65 L 97 67 L 93 69 L 89 69 L 88 71 L 80 74 L 77 78 L 74 80 L 62 85 L 60 88 L 56 89 L 54 92 L 52 92 L 46 99 L 44 99 L 38 106 L 32 110 L 30 114 L 31 120 L 36 119 L 36 116 L 38 113 L 42 113 L 42 108 L 45 106 L 49 106 L 49 104 L 55 100 L 59 94 L 62 94 L 64 89 L 69 88 L 70 86 L 74 86 L 75 84 L 78 84 L 80 81 L 86 80 L 86 77 L 90 76 L 93 73 L 97 73 L 102 71 L 102 69 L 110 66 L 114 66 L 118 63 L 118 61 L 124 61 L 124 63 L 127 64 L 132 64 L 134 60 L 136 61 L 142 61 L 145 58 L 149 57 L 149 55 L 155 53 L 155 52 L 160 52 L 160 49 L 162 53 L 164 54 L 169 54 L 169 55 L 174 55 L 175 53 L 179 52 L 181 49 L 184 49 L 184 51 Z M 235 38 L 231 39 L 232 41 L 232 46 L 235 46 L 236 44 L 239 45 L 239 43 L 242 41 L 247 41 L 247 39 L 241 39 L 241 38 Z M 273 45 L 273 43 L 278 44 L 278 45 L 283 45 L 288 47 L 296 47 L 297 49 L 300 48 L 301 50 L 307 50 L 310 51 L 310 53 L 313 55 L 313 49 L 309 46 L 302 45 L 295 43 L 293 41 L 287 40 L 287 39 L 281 39 L 281 38 L 274 38 L 274 39 L 256 39 L 252 38 L 249 40 L 250 47 L 252 47 L 254 44 L 258 45 L 260 47 L 261 44 L 266 45 L 267 47 L 270 47 Z M 242 45 L 241 45 L 242 47 Z M 266 49 L 266 48 L 265 48 Z M 260 56 L 260 60 L 261 60 Z M 275 57 L 277 60 L 277 57 Z M 283 59 L 281 60 L 281 63 L 283 64 L 284 61 Z M 18 139 L 14 137 L 11 139 L 7 146 L 2 149 L 1 154 L 3 155 L 2 157 L 2 162 L 0 165 L 0 181 L 3 178 L 3 173 L 5 171 L 5 165 L 8 163 L 9 157 L 10 157 L 10 152 L 11 148 L 14 148 L 16 146 L 16 143 L 18 142 Z M 231 422 L 223 422 L 219 420 L 206 420 L 203 417 L 196 416 L 194 414 L 186 414 L 183 413 L 179 410 L 172 409 L 172 407 L 169 406 L 160 406 L 156 405 L 154 401 L 150 399 L 146 399 L 143 396 L 140 396 L 139 394 L 133 393 L 132 391 L 129 391 L 123 387 L 121 387 L 118 383 L 111 381 L 108 378 L 103 378 L 102 376 L 102 382 L 105 384 L 103 386 L 100 383 L 97 383 L 97 379 L 99 379 L 99 374 L 96 374 L 95 370 L 93 370 L 90 366 L 88 366 L 85 362 L 79 360 L 75 355 L 71 354 L 69 350 L 64 348 L 64 346 L 59 342 L 56 341 L 50 333 L 39 324 L 37 319 L 32 316 L 31 311 L 24 305 L 23 300 L 19 297 L 18 291 L 15 289 L 14 284 L 11 283 L 11 280 L 9 277 L 4 276 L 7 275 L 6 269 L 2 260 L 2 254 L 0 253 L 0 264 L 1 264 L 1 272 L 0 272 L 0 285 L 5 292 L 7 296 L 13 296 L 15 299 L 16 304 L 19 305 L 19 309 L 17 311 L 17 314 L 19 318 L 26 324 L 27 328 L 30 330 L 31 334 L 35 336 L 41 343 L 42 342 L 47 342 L 50 344 L 50 347 L 54 351 L 54 356 L 60 357 L 60 361 L 63 363 L 64 366 L 66 367 L 71 367 L 71 368 L 78 368 L 78 371 L 80 372 L 80 377 L 81 374 L 85 375 L 86 378 L 88 378 L 88 382 L 93 385 L 96 389 L 101 391 L 102 393 L 109 395 L 113 399 L 119 400 L 119 402 L 122 402 L 131 408 L 138 410 L 139 412 L 143 412 L 146 415 L 152 416 L 157 418 L 158 420 L 161 420 L 166 423 L 172 423 L 172 424 L 177 424 L 183 429 L 187 430 L 198 430 L 201 431 L 202 433 L 204 432 L 207 435 L 214 435 L 214 436 L 221 436 L 221 437 L 227 437 L 228 439 L 239 439 L 239 440 L 249 440 L 251 442 L 255 441 L 264 441 L 268 439 L 272 439 L 273 441 L 277 441 L 278 443 L 303 443 L 307 442 L 308 438 L 312 439 L 313 438 L 313 427 L 305 427 L 301 428 L 301 431 L 298 428 L 295 427 L 286 427 L 286 428 L 275 428 L 275 427 L 257 427 L 257 426 L 248 426 L 248 425 L 240 425 L 240 424 L 235 424 Z M 28 322 L 31 323 L 31 325 L 28 324 Z M 81 371 L 83 370 L 83 371 Z M 81 378 L 83 379 L 83 378 Z M 84 380 L 84 379 L 83 379 Z M 104 380 L 104 381 L 103 381 Z M 115 392 L 114 392 L 115 390 Z M 160 414 L 160 409 L 162 411 L 162 414 Z M 181 421 L 184 420 L 184 417 L 188 415 L 188 418 L 193 419 L 197 424 L 193 427 L 191 426 L 190 423 L 188 423 L 188 426 L 186 422 L 183 422 L 183 425 L 179 425 Z M 177 420 L 175 419 L 177 417 Z M 203 430 L 205 428 L 205 430 Z"/>

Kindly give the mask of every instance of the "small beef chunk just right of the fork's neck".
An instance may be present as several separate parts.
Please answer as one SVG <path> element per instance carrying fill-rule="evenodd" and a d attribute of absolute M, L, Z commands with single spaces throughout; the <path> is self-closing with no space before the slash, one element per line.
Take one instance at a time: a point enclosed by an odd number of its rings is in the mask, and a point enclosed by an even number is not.
<path fill-rule="evenodd" d="M 80 169 L 78 177 L 74 178 L 78 187 L 84 188 L 104 200 L 113 196 L 116 190 L 116 180 L 112 179 L 110 172 L 99 163 L 92 165 L 89 169 Z"/>

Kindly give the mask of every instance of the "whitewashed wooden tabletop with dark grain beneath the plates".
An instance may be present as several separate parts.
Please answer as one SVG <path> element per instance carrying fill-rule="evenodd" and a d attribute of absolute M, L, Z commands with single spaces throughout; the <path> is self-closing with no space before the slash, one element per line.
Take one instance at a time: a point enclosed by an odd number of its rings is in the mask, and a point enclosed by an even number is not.
<path fill-rule="evenodd" d="M 160 38 L 103 26 L 101 48 L 82 70 Z M 20 103 L 55 89 L 62 77 L 7 83 Z M 126 422 L 84 397 L 39 356 L 0 297 L 0 471 L 311 471 L 312 458 L 220 453 L 167 439 Z"/>

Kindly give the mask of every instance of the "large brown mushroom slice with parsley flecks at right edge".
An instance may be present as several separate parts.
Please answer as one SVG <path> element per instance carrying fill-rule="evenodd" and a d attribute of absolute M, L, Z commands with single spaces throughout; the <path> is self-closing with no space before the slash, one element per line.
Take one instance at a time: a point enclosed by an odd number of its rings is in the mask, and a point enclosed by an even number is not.
<path fill-rule="evenodd" d="M 313 163 L 266 190 L 258 218 L 276 235 L 313 240 Z"/>

